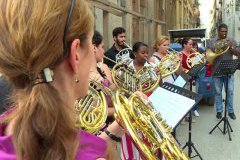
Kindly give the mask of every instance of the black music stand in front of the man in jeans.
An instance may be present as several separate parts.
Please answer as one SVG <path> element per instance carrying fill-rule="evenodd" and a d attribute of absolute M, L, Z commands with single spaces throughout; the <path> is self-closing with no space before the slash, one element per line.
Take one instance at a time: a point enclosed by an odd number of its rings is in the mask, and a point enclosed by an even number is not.
<path fill-rule="evenodd" d="M 226 76 L 227 82 L 226 82 L 226 86 L 224 86 L 225 93 L 226 93 L 225 100 L 223 100 L 223 102 L 225 103 L 224 117 L 213 127 L 213 129 L 209 132 L 209 134 L 211 134 L 216 128 L 218 128 L 223 134 L 226 134 L 226 132 L 228 132 L 229 141 L 232 141 L 230 131 L 233 132 L 233 130 L 232 130 L 232 127 L 231 127 L 231 125 L 228 121 L 228 117 L 227 117 L 226 101 L 227 101 L 227 93 L 228 93 L 228 77 L 229 77 L 229 75 L 234 74 L 234 72 L 239 68 L 239 65 L 240 65 L 240 62 L 237 59 L 236 60 L 223 60 L 219 64 L 217 64 L 217 67 L 213 71 L 213 74 L 212 74 L 215 77 Z M 221 122 L 223 122 L 223 130 L 221 130 L 221 128 L 218 127 L 218 125 L 221 124 Z"/>

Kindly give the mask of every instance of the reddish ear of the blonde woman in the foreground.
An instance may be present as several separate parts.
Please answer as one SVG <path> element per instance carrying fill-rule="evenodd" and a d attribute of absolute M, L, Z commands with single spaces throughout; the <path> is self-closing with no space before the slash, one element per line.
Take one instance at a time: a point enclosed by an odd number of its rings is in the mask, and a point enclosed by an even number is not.
<path fill-rule="evenodd" d="M 80 64 L 80 40 L 74 39 L 69 51 L 69 65 L 74 74 L 78 73 Z"/>

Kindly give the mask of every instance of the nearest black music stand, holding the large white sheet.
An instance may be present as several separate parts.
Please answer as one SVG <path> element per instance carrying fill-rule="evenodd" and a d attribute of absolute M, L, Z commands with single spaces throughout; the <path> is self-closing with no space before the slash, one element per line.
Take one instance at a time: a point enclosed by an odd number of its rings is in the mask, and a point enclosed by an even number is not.
<path fill-rule="evenodd" d="M 173 84 L 170 84 L 170 83 L 163 83 L 162 85 L 162 88 L 164 89 L 167 89 L 169 91 L 172 91 L 172 92 L 175 92 L 177 94 L 180 94 L 182 96 L 185 96 L 185 97 L 188 97 L 190 99 L 193 99 L 195 100 L 195 104 L 190 108 L 190 110 L 186 113 L 186 115 L 189 113 L 189 132 L 188 132 L 188 141 L 186 142 L 186 144 L 184 145 L 183 149 L 185 149 L 186 147 L 188 147 L 188 156 L 190 158 L 194 158 L 194 157 L 199 157 L 201 160 L 202 160 L 202 157 L 200 155 L 200 153 L 198 152 L 198 150 L 195 148 L 193 142 L 192 142 L 192 135 L 191 135 L 191 129 L 192 129 L 192 116 L 191 116 L 191 111 L 192 111 L 192 108 L 195 107 L 195 105 L 197 105 L 199 103 L 199 101 L 201 100 L 202 96 L 197 94 L 197 93 L 194 93 L 194 92 L 191 92 L 185 88 L 181 88 L 179 86 L 176 86 L 176 85 L 173 85 Z M 185 115 L 185 116 L 186 116 Z M 184 116 L 184 117 L 185 117 Z M 184 118 L 182 117 L 182 119 Z M 180 123 L 180 122 L 179 122 Z M 178 124 L 179 124 L 178 123 Z M 178 125 L 176 125 L 178 126 Z M 175 128 L 174 128 L 175 129 Z M 192 154 L 192 148 L 194 149 L 194 151 L 196 152 L 196 155 L 194 156 L 191 156 Z"/>

